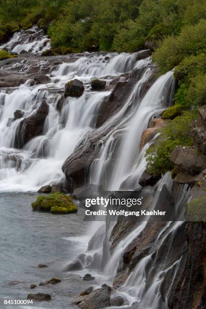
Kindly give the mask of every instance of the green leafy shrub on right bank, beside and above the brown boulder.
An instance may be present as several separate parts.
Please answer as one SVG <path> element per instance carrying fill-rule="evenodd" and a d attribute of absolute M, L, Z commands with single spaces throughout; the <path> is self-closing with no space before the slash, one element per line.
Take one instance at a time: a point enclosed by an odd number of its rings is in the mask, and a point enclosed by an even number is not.
<path fill-rule="evenodd" d="M 174 168 L 170 161 L 171 153 L 178 145 L 192 145 L 190 124 L 197 117 L 196 110 L 185 111 L 182 116 L 167 121 L 165 126 L 160 129 L 161 136 L 158 142 L 146 150 L 148 173 L 159 175 Z"/>

